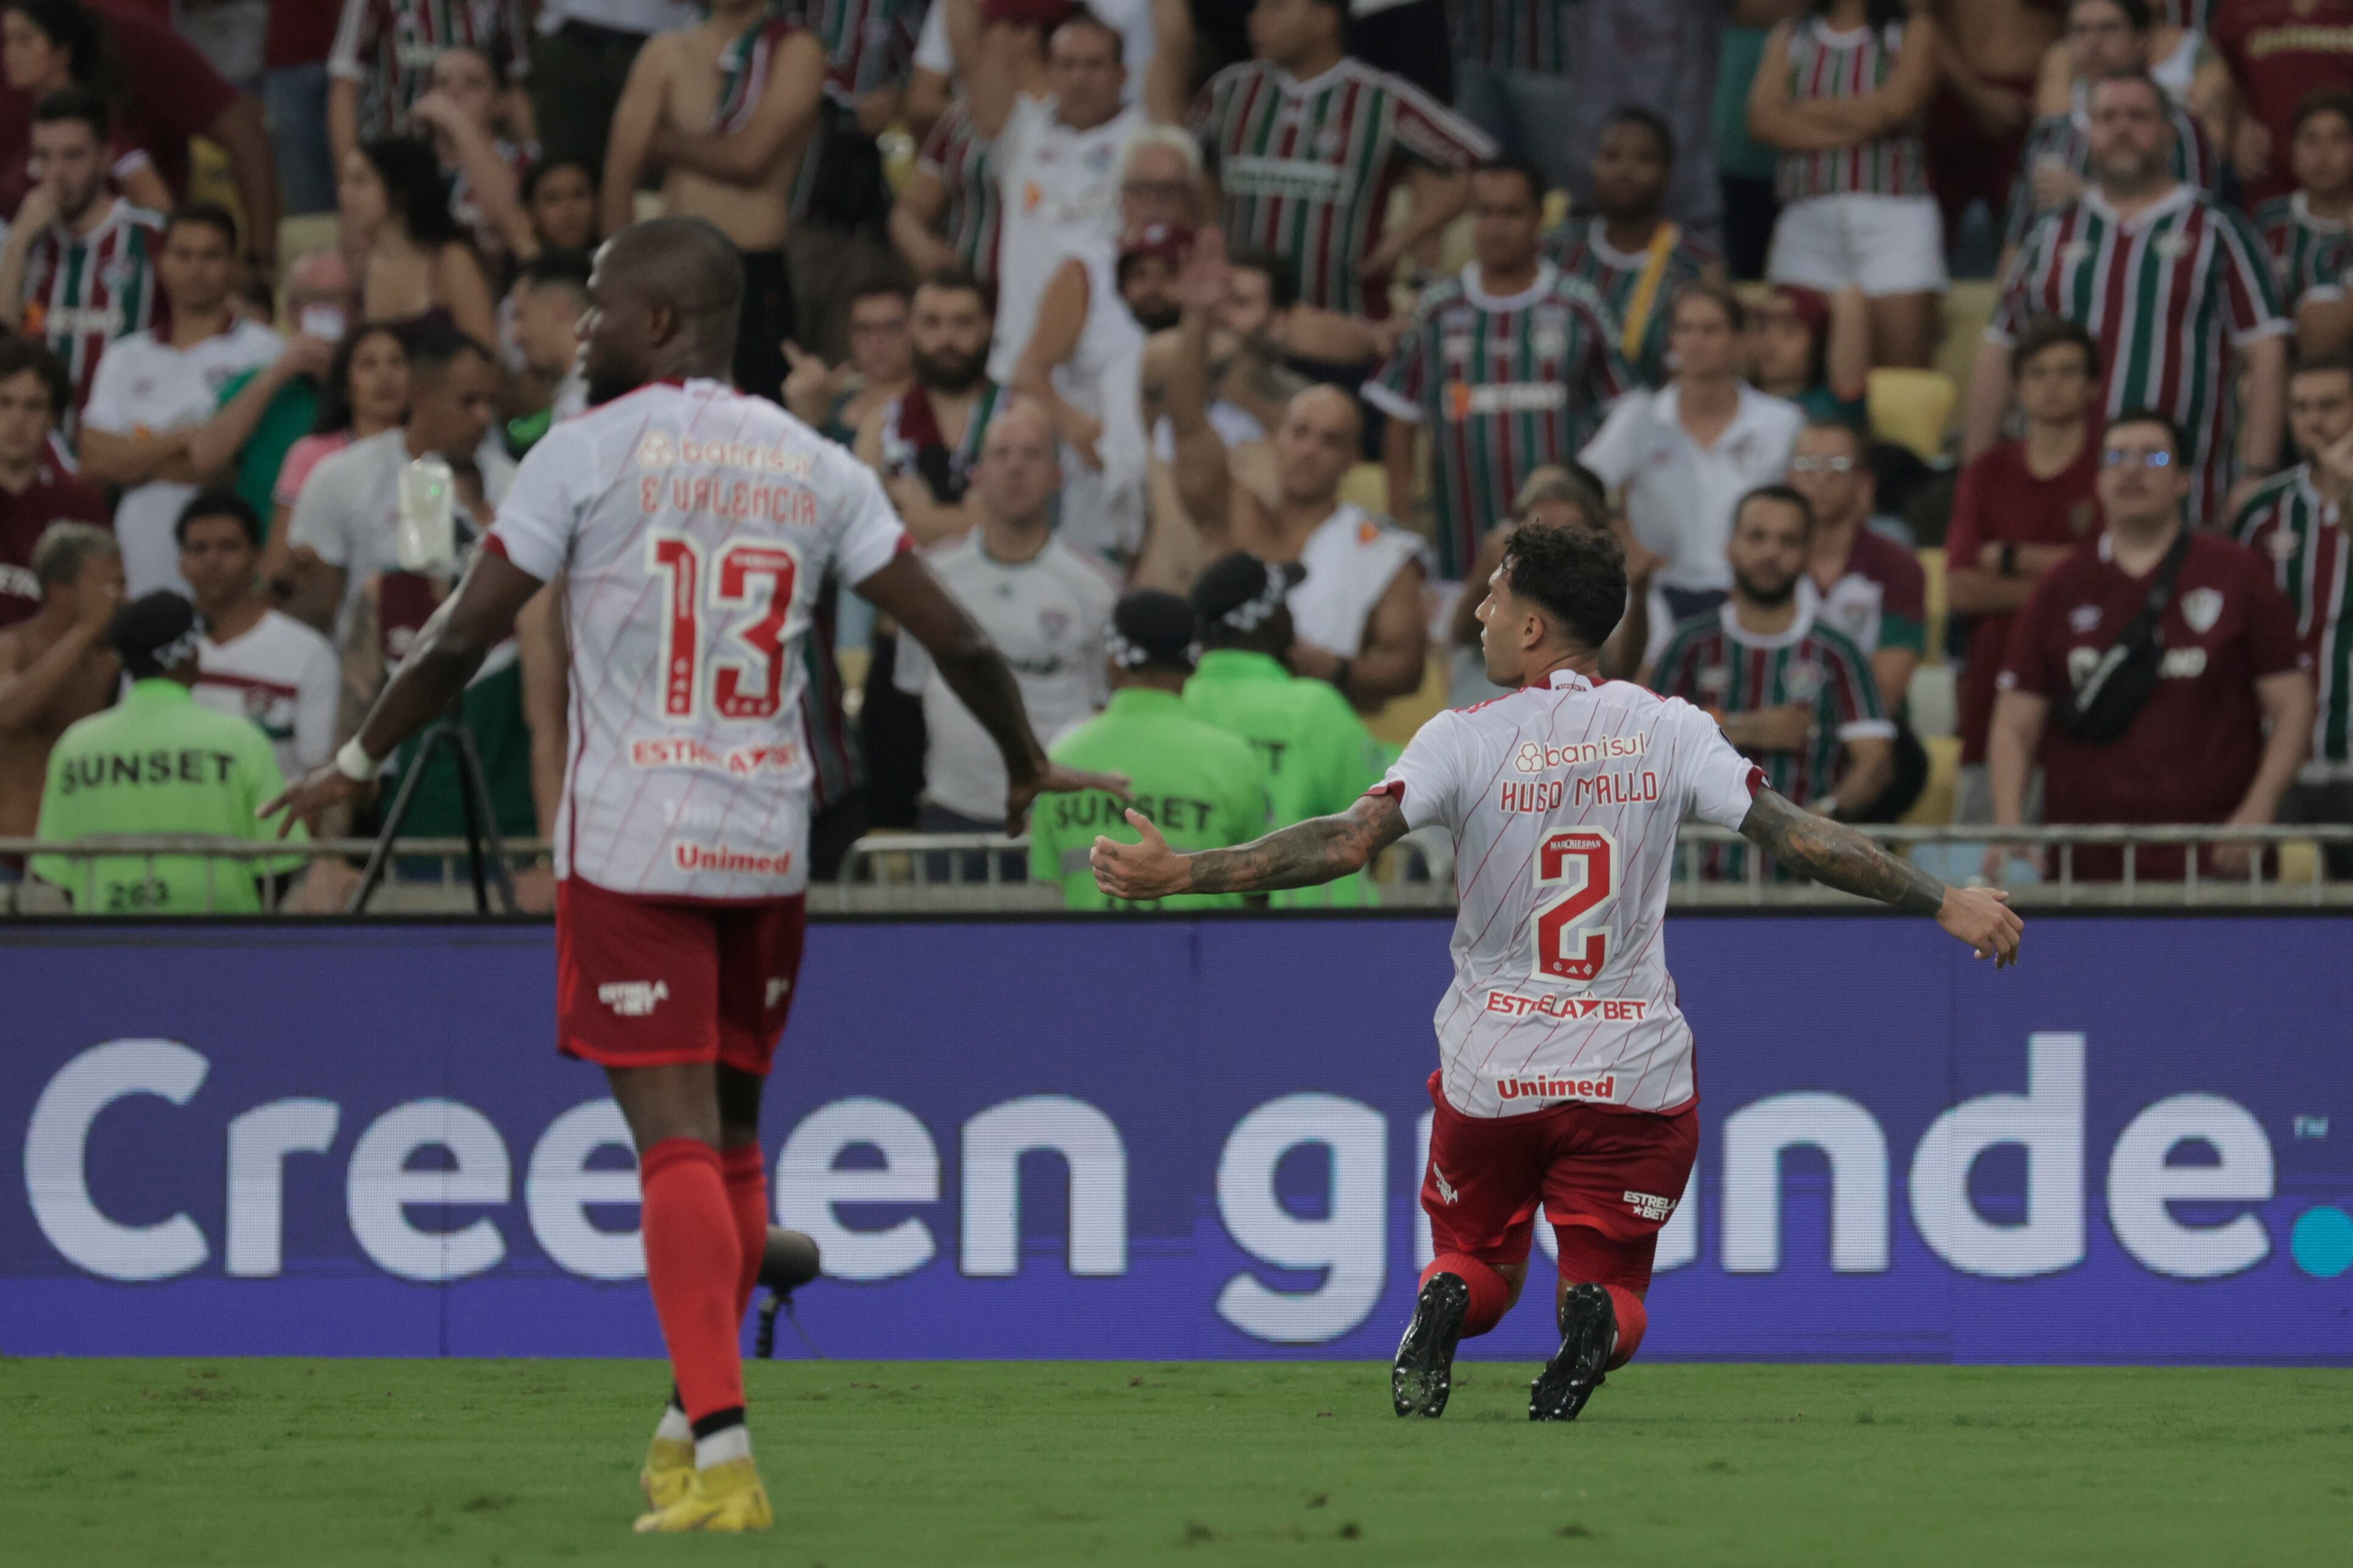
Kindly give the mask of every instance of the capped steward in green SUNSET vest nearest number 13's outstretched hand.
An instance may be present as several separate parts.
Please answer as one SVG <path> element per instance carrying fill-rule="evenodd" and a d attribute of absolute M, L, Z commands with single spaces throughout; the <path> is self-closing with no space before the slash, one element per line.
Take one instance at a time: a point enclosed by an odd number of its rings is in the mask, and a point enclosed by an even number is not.
<path fill-rule="evenodd" d="M 1172 893 L 1129 905 L 1094 886 L 1096 837 L 1134 844 L 1141 816 L 1179 851 L 1247 844 L 1266 832 L 1266 785 L 1247 741 L 1184 698 L 1200 658 L 1193 609 L 1139 588 L 1111 616 L 1111 705 L 1047 748 L 1054 762 L 1127 778 L 1127 804 L 1104 790 L 1040 797 L 1031 818 L 1031 882 L 1061 884 L 1071 910 L 1231 910 L 1240 893 Z"/>

